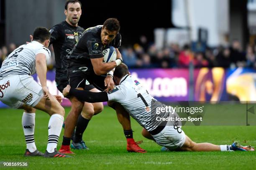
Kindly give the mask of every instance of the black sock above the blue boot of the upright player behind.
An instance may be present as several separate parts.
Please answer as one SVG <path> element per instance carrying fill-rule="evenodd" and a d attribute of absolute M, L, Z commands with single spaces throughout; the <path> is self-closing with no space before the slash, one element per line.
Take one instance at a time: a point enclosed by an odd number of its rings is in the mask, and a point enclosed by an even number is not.
<path fill-rule="evenodd" d="M 79 143 L 82 141 L 84 130 L 87 128 L 89 122 L 90 120 L 85 119 L 84 117 L 82 117 L 82 115 L 79 115 L 77 119 L 76 133 L 73 139 L 74 143 Z"/>

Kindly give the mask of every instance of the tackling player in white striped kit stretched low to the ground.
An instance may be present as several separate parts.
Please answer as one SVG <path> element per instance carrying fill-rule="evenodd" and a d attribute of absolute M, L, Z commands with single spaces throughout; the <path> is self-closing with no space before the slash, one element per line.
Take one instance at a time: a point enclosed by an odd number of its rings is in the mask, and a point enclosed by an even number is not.
<path fill-rule="evenodd" d="M 125 64 L 120 64 L 114 72 L 115 86 L 112 92 L 94 92 L 88 90 L 71 89 L 68 85 L 63 90 L 63 95 L 72 95 L 78 100 L 86 102 L 119 102 L 125 110 L 144 128 L 143 136 L 156 141 L 157 144 L 168 148 L 169 150 L 185 151 L 233 151 L 233 150 L 254 150 L 250 146 L 241 146 L 238 143 L 232 145 L 213 145 L 211 143 L 195 143 L 183 130 L 172 125 L 172 122 L 153 122 L 151 121 L 151 110 L 156 107 L 165 107 L 154 97 L 148 94 L 147 90 L 138 80 L 134 79 Z M 153 102 L 152 102 L 153 101 Z M 154 103 L 151 105 L 151 103 Z M 160 117 L 166 117 L 166 112 L 161 112 Z"/>

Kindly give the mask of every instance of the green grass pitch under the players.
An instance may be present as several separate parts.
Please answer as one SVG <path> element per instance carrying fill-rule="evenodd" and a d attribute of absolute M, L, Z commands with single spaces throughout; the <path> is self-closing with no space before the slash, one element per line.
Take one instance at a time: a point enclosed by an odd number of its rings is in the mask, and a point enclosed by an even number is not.
<path fill-rule="evenodd" d="M 66 108 L 66 115 L 70 108 Z M 135 140 L 148 153 L 128 153 L 123 130 L 115 112 L 105 107 L 90 121 L 83 139 L 90 150 L 73 150 L 74 158 L 25 158 L 26 143 L 21 126 L 22 110 L 0 109 L 0 168 L 3 162 L 26 162 L 26 169 L 256 169 L 256 152 L 160 152 L 161 146 L 141 135 L 141 126 L 132 120 Z M 35 141 L 38 150 L 46 150 L 49 115 L 36 113 Z M 184 132 L 195 142 L 218 145 L 256 146 L 256 126 L 184 126 Z M 58 148 L 61 145 L 63 130 Z M 246 142 L 246 143 L 245 143 Z M 11 167 L 8 169 L 18 169 Z M 24 169 L 24 168 L 22 168 Z"/>

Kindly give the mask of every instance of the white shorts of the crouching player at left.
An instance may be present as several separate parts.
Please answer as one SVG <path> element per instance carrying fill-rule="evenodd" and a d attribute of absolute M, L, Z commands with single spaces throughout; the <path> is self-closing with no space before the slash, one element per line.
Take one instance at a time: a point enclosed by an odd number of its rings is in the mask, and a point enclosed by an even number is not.
<path fill-rule="evenodd" d="M 24 103 L 31 107 L 44 96 L 41 85 L 29 75 L 12 75 L 0 80 L 0 101 L 19 108 Z"/>

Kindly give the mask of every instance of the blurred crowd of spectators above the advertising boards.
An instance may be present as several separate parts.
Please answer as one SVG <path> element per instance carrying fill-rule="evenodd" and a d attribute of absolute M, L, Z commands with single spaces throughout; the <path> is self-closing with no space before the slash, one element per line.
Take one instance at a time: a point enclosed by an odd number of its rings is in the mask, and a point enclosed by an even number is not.
<path fill-rule="evenodd" d="M 0 48 L 0 65 L 17 46 L 11 43 Z M 48 69 L 54 69 L 55 60 L 52 46 L 51 59 L 47 61 Z M 130 68 L 174 68 L 174 67 L 251 67 L 256 69 L 256 45 L 243 49 L 238 40 L 228 47 L 207 47 L 200 43 L 180 47 L 176 43 L 158 49 L 153 43 L 147 43 L 142 36 L 139 43 L 121 47 L 123 62 Z"/>

